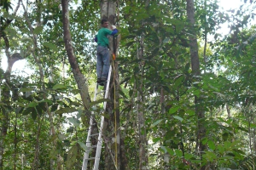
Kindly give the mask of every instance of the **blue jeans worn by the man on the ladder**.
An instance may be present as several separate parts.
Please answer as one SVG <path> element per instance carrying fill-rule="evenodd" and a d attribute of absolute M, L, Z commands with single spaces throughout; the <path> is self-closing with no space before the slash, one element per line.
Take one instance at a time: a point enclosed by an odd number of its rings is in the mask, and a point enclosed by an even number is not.
<path fill-rule="evenodd" d="M 108 47 L 103 46 L 97 46 L 96 48 L 96 54 L 97 54 L 97 64 L 96 64 L 96 72 L 97 72 L 97 78 L 108 78 L 108 71 L 109 71 L 109 51 Z"/>

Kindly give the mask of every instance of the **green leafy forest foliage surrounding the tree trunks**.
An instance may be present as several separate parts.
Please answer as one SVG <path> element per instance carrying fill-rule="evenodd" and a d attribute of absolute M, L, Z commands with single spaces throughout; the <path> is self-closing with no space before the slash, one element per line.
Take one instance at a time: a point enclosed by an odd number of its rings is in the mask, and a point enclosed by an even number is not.
<path fill-rule="evenodd" d="M 143 133 L 148 137 L 149 169 L 199 169 L 205 165 L 211 169 L 252 169 L 256 150 L 256 36 L 255 26 L 248 25 L 253 14 L 244 7 L 255 7 L 255 3 L 244 1 L 233 13 L 222 11 L 215 1 L 195 3 L 202 72 L 195 77 L 190 68 L 191 30 L 185 1 L 149 2 L 146 6 L 144 1 L 119 1 L 121 147 L 129 160 L 124 168 L 138 167 L 140 104 L 146 119 Z M 27 15 L 26 8 L 19 8 L 20 13 L 14 15 L 10 1 L 0 3 L 1 23 L 13 19 L 1 26 L 1 37 L 9 38 L 9 51 L 24 54 L 32 70 L 30 75 L 11 74 L 9 79 L 6 71 L 0 72 L 1 90 L 9 96 L 4 100 L 1 96 L 0 102 L 1 128 L 7 115 L 9 127 L 6 135 L 1 133 L 4 153 L 0 168 L 80 169 L 88 130 L 85 114 L 89 113 L 82 109 L 79 89 L 67 64 L 60 4 L 27 1 L 24 5 L 30 8 Z M 100 26 L 99 7 L 99 1 L 70 3 L 74 53 L 91 94 L 96 79 L 93 37 Z M 218 33 L 222 23 L 230 24 L 227 36 Z M 207 36 L 212 37 L 212 42 L 203 44 Z M 143 58 L 138 59 L 142 37 Z M 7 47 L 3 38 L 1 44 Z M 137 91 L 141 83 L 141 91 Z M 137 93 L 142 94 L 143 103 L 137 101 Z M 198 105 L 205 112 L 203 120 L 196 116 L 195 96 L 202 96 Z M 96 120 L 101 115 L 109 117 L 102 111 L 102 101 L 90 104 Z M 196 133 L 198 122 L 206 129 L 202 141 L 198 141 Z M 199 142 L 207 144 L 203 153 L 198 151 Z M 104 158 L 101 160 L 104 165 Z"/>

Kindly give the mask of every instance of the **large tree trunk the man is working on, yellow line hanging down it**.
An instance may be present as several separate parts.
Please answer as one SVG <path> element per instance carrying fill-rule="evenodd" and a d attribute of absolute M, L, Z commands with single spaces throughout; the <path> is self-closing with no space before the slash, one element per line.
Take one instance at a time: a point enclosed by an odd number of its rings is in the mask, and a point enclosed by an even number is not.
<path fill-rule="evenodd" d="M 115 25 L 116 22 L 116 6 L 115 1 L 101 1 L 101 16 L 102 19 L 107 19 L 109 26 Z M 115 41 L 113 37 L 109 37 L 109 48 L 112 56 L 113 52 L 118 51 L 119 41 Z M 115 47 L 113 47 L 113 41 L 115 41 Z M 114 50 L 115 49 L 115 50 Z M 116 57 L 117 57 L 116 53 Z M 119 71 L 118 63 L 112 62 L 113 67 L 113 81 L 110 82 L 109 87 L 109 99 L 113 102 L 108 103 L 107 111 L 109 118 L 105 119 L 107 128 L 105 130 L 106 148 L 105 150 L 105 169 L 113 170 L 120 169 L 120 130 L 119 130 Z"/>

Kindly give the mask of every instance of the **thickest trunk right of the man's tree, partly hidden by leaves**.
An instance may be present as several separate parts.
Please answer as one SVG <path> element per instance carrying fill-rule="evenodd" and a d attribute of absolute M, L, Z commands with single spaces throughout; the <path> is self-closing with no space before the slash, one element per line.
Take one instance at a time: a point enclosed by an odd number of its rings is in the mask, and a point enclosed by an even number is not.
<path fill-rule="evenodd" d="M 200 76 L 200 62 L 199 62 L 199 56 L 198 56 L 198 45 L 197 45 L 197 37 L 196 37 L 196 31 L 195 31 L 195 6 L 194 6 L 194 0 L 187 0 L 187 15 L 189 19 L 189 30 L 190 36 L 189 36 L 189 46 L 190 46 L 190 58 L 191 58 L 191 65 L 192 65 L 192 71 L 195 74 L 195 76 Z M 198 145 L 198 151 L 201 155 L 201 153 L 206 150 L 207 145 L 202 144 L 202 139 L 206 136 L 206 128 L 204 127 L 203 121 L 205 118 L 205 113 L 200 105 L 201 103 L 201 97 L 195 96 L 195 114 L 197 115 L 197 145 Z M 201 170 L 206 169 L 206 167 L 201 167 Z"/>

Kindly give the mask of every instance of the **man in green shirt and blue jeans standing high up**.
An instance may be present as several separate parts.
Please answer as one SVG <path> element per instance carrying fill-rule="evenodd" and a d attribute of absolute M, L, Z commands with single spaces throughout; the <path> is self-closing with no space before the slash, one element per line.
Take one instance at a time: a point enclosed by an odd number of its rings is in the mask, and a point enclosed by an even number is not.
<path fill-rule="evenodd" d="M 97 83 L 101 86 L 104 86 L 105 82 L 108 79 L 108 71 L 110 65 L 110 54 L 108 51 L 108 35 L 115 35 L 118 33 L 116 26 L 111 26 L 111 30 L 108 29 L 108 20 L 102 19 L 101 21 L 102 28 L 98 31 L 95 42 L 97 42 L 96 55 L 96 73 L 97 73 Z"/>

